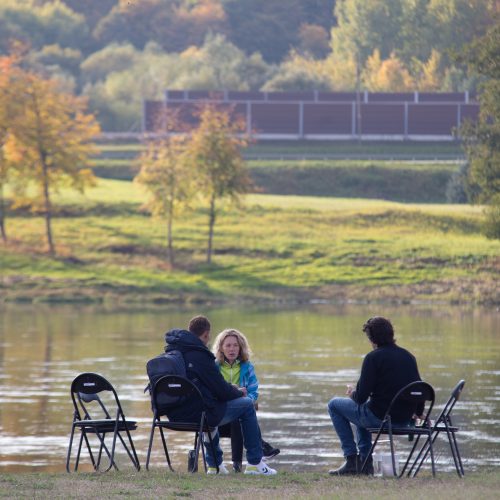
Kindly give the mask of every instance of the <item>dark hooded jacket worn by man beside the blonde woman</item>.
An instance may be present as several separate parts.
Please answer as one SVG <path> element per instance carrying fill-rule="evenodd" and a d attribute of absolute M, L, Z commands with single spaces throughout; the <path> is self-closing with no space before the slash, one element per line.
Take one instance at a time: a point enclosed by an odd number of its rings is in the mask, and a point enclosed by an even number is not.
<path fill-rule="evenodd" d="M 240 398 L 243 393 L 228 384 L 222 377 L 215 356 L 207 346 L 188 330 L 170 330 L 165 334 L 165 351 L 178 350 L 186 363 L 186 376 L 200 390 L 208 424 L 216 426 L 226 411 L 226 401 Z M 171 420 L 199 421 L 202 408 L 195 401 L 187 400 L 181 407 L 169 412 Z"/>

